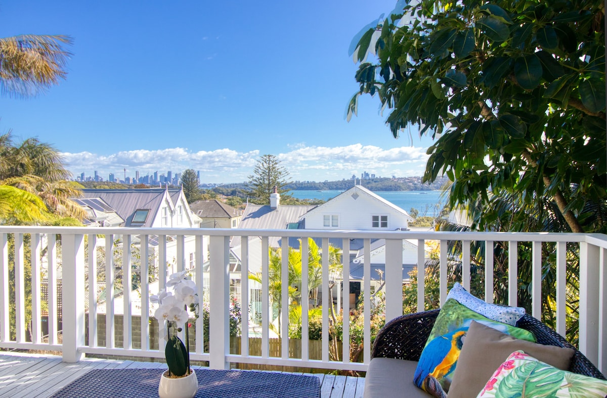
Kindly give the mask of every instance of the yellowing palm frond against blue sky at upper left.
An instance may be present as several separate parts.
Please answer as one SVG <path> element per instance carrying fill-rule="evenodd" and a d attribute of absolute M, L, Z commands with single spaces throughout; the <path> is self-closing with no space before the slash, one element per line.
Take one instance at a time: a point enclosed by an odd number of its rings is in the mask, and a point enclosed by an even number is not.
<path fill-rule="evenodd" d="M 21 35 L 0 38 L 0 91 L 29 97 L 58 84 L 67 75 L 69 36 Z"/>

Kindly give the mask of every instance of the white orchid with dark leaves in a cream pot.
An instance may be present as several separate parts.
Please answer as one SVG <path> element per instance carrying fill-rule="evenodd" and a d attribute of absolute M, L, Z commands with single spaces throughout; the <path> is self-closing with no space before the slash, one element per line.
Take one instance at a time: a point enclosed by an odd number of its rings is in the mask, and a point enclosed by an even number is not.
<path fill-rule="evenodd" d="M 158 320 L 160 336 L 166 340 L 164 357 L 169 366 L 160 377 L 158 395 L 161 398 L 192 398 L 198 391 L 198 380 L 189 362 L 188 310 L 194 313 L 194 318 L 198 317 L 196 284 L 186 276 L 186 271 L 172 274 L 166 282 L 166 290 L 151 296 L 150 302 L 158 304 L 154 317 Z M 184 327 L 185 345 L 177 336 Z"/>

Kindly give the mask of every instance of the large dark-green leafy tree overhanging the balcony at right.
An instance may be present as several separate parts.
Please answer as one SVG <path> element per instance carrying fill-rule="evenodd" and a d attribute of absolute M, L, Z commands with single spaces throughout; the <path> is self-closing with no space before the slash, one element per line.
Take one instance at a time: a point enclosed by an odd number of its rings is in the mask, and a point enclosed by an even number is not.
<path fill-rule="evenodd" d="M 431 133 L 424 180 L 446 173 L 474 228 L 606 231 L 603 2 L 401 5 L 354 46 L 348 116 L 377 95 L 395 137 Z"/>

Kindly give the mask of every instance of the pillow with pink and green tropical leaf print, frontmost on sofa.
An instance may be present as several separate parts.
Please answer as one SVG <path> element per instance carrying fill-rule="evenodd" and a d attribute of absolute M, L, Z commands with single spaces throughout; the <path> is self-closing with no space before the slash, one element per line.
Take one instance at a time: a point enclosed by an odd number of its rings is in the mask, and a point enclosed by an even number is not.
<path fill-rule="evenodd" d="M 559 370 L 523 351 L 515 351 L 476 397 L 521 396 L 603 398 L 607 396 L 607 381 Z"/>

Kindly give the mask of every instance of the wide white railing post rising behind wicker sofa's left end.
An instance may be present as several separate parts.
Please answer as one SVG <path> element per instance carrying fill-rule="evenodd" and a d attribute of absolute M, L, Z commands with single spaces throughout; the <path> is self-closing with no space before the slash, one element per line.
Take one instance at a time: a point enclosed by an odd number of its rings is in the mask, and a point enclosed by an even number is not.
<path fill-rule="evenodd" d="M 402 315 L 402 239 L 385 240 L 385 323 Z"/>

